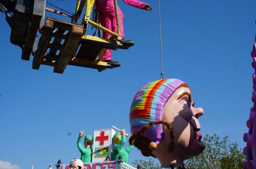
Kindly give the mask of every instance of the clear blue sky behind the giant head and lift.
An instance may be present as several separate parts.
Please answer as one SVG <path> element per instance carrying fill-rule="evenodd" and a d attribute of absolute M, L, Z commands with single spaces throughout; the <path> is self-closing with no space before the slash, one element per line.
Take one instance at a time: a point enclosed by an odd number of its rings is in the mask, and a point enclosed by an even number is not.
<path fill-rule="evenodd" d="M 67 11 L 75 8 L 74 1 L 49 2 Z M 160 77 L 157 1 L 146 0 L 152 12 L 118 3 L 125 37 L 135 46 L 114 51 L 113 60 L 122 66 L 103 72 L 74 66 L 63 74 L 44 65 L 31 69 L 32 59 L 20 59 L 21 49 L 10 43 L 10 29 L 0 15 L 0 160 L 23 169 L 32 163 L 47 168 L 58 159 L 68 163 L 80 157 L 80 130 L 93 134 L 115 125 L 130 132 L 135 93 Z M 229 135 L 241 148 L 252 106 L 255 6 L 253 0 L 161 1 L 164 77 L 180 78 L 193 90 L 196 106 L 204 109 L 203 136 Z M 138 158 L 144 157 L 134 149 L 130 162 Z"/>

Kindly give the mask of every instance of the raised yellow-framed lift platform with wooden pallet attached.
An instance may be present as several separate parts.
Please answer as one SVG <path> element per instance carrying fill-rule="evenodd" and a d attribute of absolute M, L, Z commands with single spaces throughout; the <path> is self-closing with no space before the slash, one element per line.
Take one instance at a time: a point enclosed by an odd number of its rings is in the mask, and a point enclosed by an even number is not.
<path fill-rule="evenodd" d="M 18 29 L 15 32 L 16 20 L 14 19 L 14 28 L 13 25 L 11 27 L 11 42 L 22 48 L 23 60 L 29 61 L 32 53 L 34 57 L 32 69 L 38 70 L 40 65 L 54 67 L 53 72 L 55 73 L 63 73 L 67 65 L 93 68 L 98 71 L 112 69 L 120 66 L 120 64 L 116 64 L 118 62 L 107 63 L 101 61 L 106 49 L 129 49 L 133 45 L 122 41 L 116 1 L 114 1 L 114 4 L 117 33 L 103 27 L 97 19 L 90 20 L 95 0 L 77 0 L 75 14 L 72 15 L 47 8 L 46 3 L 49 4 L 49 2 L 46 0 L 33 0 L 33 3 L 29 4 L 30 6 L 26 2 L 30 2 L 30 0 L 18 1 L 15 7 L 16 11 L 14 11 L 15 16 L 29 16 L 26 21 L 17 22 L 19 27 L 25 25 L 26 22 L 26 30 L 21 32 Z M 81 24 L 78 24 L 77 21 L 84 8 L 86 11 L 83 19 Z M 30 9 L 30 12 L 28 13 L 24 9 Z M 68 16 L 71 18 L 71 22 L 50 17 L 45 19 L 45 11 Z M 87 35 L 89 24 L 98 29 L 98 36 Z M 101 31 L 110 34 L 111 37 L 109 39 L 102 38 Z"/>

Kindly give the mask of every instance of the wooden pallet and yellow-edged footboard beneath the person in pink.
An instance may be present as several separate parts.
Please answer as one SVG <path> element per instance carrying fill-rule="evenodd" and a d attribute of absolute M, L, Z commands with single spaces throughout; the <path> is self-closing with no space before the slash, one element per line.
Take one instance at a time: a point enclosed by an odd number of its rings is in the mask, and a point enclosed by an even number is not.
<path fill-rule="evenodd" d="M 84 35 L 83 25 L 47 18 L 41 33 L 32 68 L 40 65 L 54 67 L 55 73 L 63 73 L 67 65 L 86 68 L 112 69 L 106 62 L 97 61 L 101 49 L 117 50 L 119 41 Z"/>

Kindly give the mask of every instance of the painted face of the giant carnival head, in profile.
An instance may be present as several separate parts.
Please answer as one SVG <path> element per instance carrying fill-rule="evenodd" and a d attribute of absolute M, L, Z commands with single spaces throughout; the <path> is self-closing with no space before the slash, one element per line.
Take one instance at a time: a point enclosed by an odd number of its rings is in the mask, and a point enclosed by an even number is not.
<path fill-rule="evenodd" d="M 195 108 L 189 88 L 181 87 L 167 100 L 163 108 L 162 120 L 170 122 L 175 136 L 174 153 L 184 159 L 200 154 L 204 150 L 201 142 L 200 123 L 198 118 L 203 115 L 201 107 Z M 164 137 L 161 142 L 170 143 L 169 131 L 163 125 Z"/>

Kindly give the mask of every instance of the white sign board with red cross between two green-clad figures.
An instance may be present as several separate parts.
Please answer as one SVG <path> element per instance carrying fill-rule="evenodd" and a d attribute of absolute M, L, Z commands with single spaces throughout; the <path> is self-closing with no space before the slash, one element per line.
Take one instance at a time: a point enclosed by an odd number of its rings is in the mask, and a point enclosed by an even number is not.
<path fill-rule="evenodd" d="M 111 158 L 113 129 L 94 130 L 92 162 L 102 162 L 106 157 Z"/>

